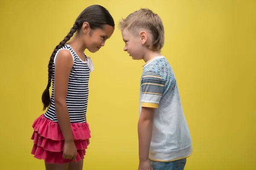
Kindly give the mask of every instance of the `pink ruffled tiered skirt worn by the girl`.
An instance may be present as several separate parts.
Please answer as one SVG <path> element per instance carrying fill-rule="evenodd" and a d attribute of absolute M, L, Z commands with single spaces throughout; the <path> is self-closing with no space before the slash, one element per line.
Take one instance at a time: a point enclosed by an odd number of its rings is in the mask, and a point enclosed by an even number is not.
<path fill-rule="evenodd" d="M 64 164 L 72 160 L 64 159 L 64 137 L 57 122 L 47 119 L 42 114 L 32 125 L 34 133 L 31 137 L 34 140 L 32 154 L 37 159 L 44 159 L 46 163 Z M 84 159 L 87 149 L 90 129 L 87 122 L 71 123 L 74 142 L 77 148 L 76 161 Z"/>

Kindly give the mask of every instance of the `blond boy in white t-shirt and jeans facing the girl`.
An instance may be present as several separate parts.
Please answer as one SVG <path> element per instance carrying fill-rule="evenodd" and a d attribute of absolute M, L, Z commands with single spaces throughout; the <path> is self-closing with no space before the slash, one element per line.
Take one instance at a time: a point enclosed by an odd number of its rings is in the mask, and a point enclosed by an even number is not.
<path fill-rule="evenodd" d="M 172 68 L 160 54 L 164 28 L 147 8 L 119 22 L 124 51 L 143 59 L 140 80 L 139 170 L 183 170 L 192 153 L 189 128 L 183 114 Z"/>

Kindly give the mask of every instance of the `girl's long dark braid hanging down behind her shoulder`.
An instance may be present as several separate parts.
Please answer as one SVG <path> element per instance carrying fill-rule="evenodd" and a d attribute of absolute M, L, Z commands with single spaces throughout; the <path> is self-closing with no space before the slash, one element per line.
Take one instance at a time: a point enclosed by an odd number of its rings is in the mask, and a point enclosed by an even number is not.
<path fill-rule="evenodd" d="M 48 64 L 48 84 L 46 89 L 44 90 L 43 94 L 42 94 L 42 102 L 44 104 L 44 108 L 43 110 L 45 110 L 49 105 L 50 105 L 50 93 L 49 93 L 49 88 L 51 86 L 51 82 L 52 82 L 52 64 L 53 64 L 53 60 L 55 57 L 55 54 L 57 53 L 57 51 L 62 48 L 67 41 L 70 40 L 71 37 L 73 37 L 73 34 L 77 31 L 77 29 L 79 28 L 79 20 L 76 21 L 76 23 L 73 25 L 73 27 L 70 29 L 70 32 L 67 34 L 67 36 L 64 38 L 64 40 L 62 40 L 59 45 L 57 45 L 53 52 L 52 55 L 50 57 L 49 60 L 49 64 Z"/>

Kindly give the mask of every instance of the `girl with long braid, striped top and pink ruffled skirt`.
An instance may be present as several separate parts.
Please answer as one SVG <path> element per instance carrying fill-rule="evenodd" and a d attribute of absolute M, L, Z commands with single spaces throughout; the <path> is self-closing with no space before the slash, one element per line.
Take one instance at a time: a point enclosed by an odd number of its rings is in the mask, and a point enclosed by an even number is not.
<path fill-rule="evenodd" d="M 93 71 L 90 57 L 84 50 L 99 51 L 113 34 L 114 26 L 106 8 L 89 6 L 50 57 L 48 84 L 42 94 L 44 110 L 49 108 L 32 125 L 32 154 L 44 159 L 46 170 L 82 170 L 90 138 L 86 111 L 89 75 Z"/>

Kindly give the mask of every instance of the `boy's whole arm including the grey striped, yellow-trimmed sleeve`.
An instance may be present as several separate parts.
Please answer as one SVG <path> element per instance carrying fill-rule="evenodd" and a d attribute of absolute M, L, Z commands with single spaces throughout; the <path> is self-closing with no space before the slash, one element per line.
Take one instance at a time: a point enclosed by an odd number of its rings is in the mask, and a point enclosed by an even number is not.
<path fill-rule="evenodd" d="M 152 138 L 153 117 L 163 95 L 165 80 L 159 74 L 146 72 L 142 76 L 141 113 L 138 122 L 140 162 L 148 161 Z"/>

